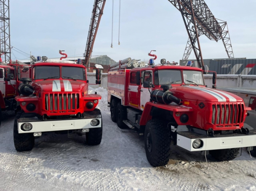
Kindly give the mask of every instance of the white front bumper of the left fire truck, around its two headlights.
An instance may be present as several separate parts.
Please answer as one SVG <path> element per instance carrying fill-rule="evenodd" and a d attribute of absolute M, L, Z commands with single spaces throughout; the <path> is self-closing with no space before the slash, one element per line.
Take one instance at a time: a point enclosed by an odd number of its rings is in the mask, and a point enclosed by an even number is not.
<path fill-rule="evenodd" d="M 99 125 L 92 126 L 91 120 L 98 119 Z M 87 129 L 101 127 L 101 118 L 92 119 L 70 119 L 58 121 L 37 121 L 37 122 L 18 122 L 19 133 L 35 133 L 35 132 L 48 132 L 58 130 L 72 130 L 72 129 Z M 31 123 L 32 129 L 29 131 L 22 130 L 21 126 L 24 123 Z"/>

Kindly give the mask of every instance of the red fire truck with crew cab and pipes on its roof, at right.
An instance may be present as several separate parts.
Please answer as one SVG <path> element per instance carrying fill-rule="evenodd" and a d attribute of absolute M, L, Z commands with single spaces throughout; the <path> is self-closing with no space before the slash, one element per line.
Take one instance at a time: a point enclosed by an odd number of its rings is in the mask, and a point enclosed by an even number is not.
<path fill-rule="evenodd" d="M 214 73 L 213 84 L 216 84 Z M 207 88 L 203 70 L 191 66 L 149 65 L 108 72 L 112 121 L 144 135 L 152 166 L 167 164 L 171 141 L 188 151 L 233 160 L 256 146 L 256 131 L 244 128 L 243 99 Z M 206 158 L 207 159 L 207 158 Z"/>

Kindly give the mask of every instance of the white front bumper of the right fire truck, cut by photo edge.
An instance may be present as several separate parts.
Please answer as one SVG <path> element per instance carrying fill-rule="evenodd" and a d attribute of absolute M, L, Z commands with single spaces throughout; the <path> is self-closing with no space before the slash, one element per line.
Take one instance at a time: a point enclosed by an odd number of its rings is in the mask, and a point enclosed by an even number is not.
<path fill-rule="evenodd" d="M 208 137 L 197 138 L 203 141 L 201 148 L 195 149 L 193 141 L 196 139 L 187 138 L 177 134 L 177 145 L 188 151 L 209 151 L 225 148 L 241 148 L 256 146 L 256 135 L 226 136 L 226 137 Z"/>

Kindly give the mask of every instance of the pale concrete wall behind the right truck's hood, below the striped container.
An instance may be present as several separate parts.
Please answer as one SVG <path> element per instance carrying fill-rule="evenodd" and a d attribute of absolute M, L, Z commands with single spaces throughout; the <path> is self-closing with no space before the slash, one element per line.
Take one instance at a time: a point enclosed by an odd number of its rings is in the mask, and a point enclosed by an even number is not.
<path fill-rule="evenodd" d="M 205 83 L 212 87 L 212 75 L 204 75 Z M 256 75 L 217 75 L 218 87 L 255 88 Z"/>

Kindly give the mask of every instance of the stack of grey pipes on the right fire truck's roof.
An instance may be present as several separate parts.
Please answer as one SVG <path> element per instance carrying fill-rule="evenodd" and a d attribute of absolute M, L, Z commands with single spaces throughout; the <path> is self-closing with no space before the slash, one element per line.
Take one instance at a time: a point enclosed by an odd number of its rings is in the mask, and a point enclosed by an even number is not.
<path fill-rule="evenodd" d="M 145 62 L 138 62 L 140 60 L 135 60 L 135 59 L 131 59 L 126 58 L 123 59 L 120 62 L 116 62 L 115 64 L 110 65 L 110 70 L 117 70 L 117 69 L 132 69 L 132 68 L 137 68 L 137 67 L 145 67 L 146 63 Z"/>

